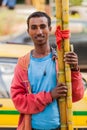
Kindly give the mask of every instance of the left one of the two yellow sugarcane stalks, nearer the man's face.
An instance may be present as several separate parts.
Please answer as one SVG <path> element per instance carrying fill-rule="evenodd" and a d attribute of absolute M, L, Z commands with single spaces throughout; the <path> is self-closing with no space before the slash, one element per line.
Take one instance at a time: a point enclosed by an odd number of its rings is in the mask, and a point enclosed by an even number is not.
<path fill-rule="evenodd" d="M 62 26 L 62 1 L 55 0 L 56 3 L 56 18 L 57 18 L 57 26 L 60 26 L 60 29 L 63 29 Z M 63 41 L 61 42 L 61 50 L 57 47 L 58 54 L 58 83 L 65 83 L 65 65 L 64 65 L 64 47 Z M 67 117 L 66 117 L 66 98 L 61 97 L 59 100 L 59 109 L 60 109 L 60 122 L 61 122 L 61 130 L 67 130 Z"/>

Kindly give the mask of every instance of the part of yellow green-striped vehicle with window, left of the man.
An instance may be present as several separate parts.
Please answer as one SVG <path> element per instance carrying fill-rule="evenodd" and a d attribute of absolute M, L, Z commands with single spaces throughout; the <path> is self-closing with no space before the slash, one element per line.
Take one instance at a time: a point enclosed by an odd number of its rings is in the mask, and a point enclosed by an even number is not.
<path fill-rule="evenodd" d="M 0 44 L 0 128 L 16 127 L 19 113 L 10 99 L 10 84 L 18 57 L 33 46 Z"/>

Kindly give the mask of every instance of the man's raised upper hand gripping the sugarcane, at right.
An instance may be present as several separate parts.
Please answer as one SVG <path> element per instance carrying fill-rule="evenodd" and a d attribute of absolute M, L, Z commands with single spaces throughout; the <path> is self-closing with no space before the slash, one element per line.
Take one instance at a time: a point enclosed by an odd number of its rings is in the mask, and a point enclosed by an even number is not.
<path fill-rule="evenodd" d="M 75 52 L 67 52 L 64 61 L 71 66 L 72 70 L 78 70 L 78 56 Z"/>

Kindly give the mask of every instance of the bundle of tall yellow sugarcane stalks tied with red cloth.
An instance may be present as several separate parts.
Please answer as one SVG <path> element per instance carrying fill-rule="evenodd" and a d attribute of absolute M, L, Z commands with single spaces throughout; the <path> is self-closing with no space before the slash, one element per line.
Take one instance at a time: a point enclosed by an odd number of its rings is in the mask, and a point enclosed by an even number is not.
<path fill-rule="evenodd" d="M 69 43 L 69 0 L 55 0 L 57 18 L 58 82 L 68 87 L 67 97 L 59 99 L 61 130 L 72 130 L 72 89 L 70 66 L 64 63 L 64 54 L 70 51 Z"/>

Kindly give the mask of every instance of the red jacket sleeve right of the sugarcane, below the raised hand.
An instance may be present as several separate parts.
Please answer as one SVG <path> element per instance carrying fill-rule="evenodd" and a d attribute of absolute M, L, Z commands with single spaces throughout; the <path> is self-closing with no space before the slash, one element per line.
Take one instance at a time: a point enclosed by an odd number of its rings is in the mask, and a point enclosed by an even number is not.
<path fill-rule="evenodd" d="M 72 101 L 80 100 L 84 95 L 84 85 L 82 75 L 79 71 L 72 71 Z"/>

